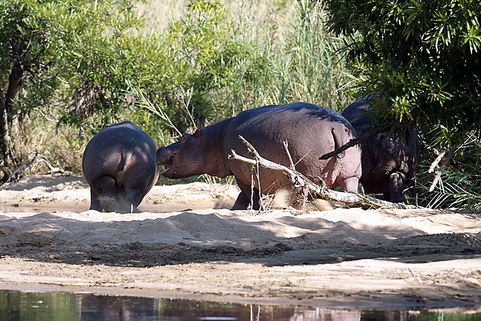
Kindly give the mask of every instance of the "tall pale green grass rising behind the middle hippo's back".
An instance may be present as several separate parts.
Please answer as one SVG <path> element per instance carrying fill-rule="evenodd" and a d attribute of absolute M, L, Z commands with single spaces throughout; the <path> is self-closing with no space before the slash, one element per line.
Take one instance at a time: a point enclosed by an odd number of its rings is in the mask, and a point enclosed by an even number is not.
<path fill-rule="evenodd" d="M 220 95 L 231 102 L 232 115 L 247 108 L 300 101 L 344 110 L 352 100 L 346 90 L 352 76 L 335 55 L 342 41 L 325 31 L 322 12 L 309 6 L 309 1 L 284 1 L 278 12 L 260 19 L 260 3 L 241 2 L 236 38 L 254 44 L 269 68 L 249 83 L 244 73 L 249 62 L 240 60 L 238 88 Z"/>

